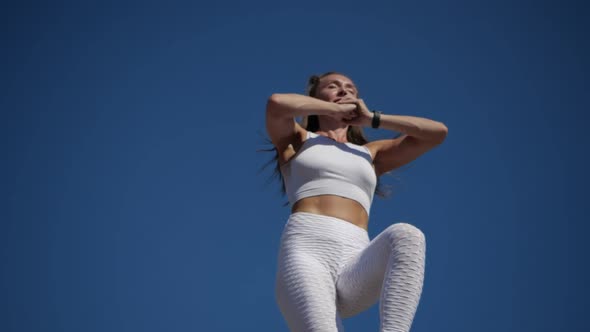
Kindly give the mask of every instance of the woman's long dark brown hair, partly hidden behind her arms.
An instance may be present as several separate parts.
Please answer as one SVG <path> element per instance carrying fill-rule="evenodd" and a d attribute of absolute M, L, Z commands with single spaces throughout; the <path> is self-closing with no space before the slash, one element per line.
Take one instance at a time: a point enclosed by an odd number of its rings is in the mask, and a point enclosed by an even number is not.
<path fill-rule="evenodd" d="M 346 76 L 344 74 L 341 74 L 341 73 L 335 72 L 335 71 L 329 71 L 329 72 L 323 73 L 321 75 L 312 75 L 309 78 L 309 80 L 307 81 L 307 89 L 306 89 L 307 95 L 310 97 L 316 97 L 317 88 L 320 83 L 320 80 L 322 78 L 324 78 L 328 75 L 332 75 L 332 74 Z M 358 92 L 357 92 L 357 97 L 358 97 Z M 316 132 L 320 129 L 320 119 L 317 115 L 306 116 L 303 118 L 301 126 L 303 128 L 305 128 L 305 130 L 307 130 L 307 131 Z M 365 134 L 363 133 L 363 129 L 358 126 L 348 126 L 348 130 L 346 131 L 346 138 L 348 139 L 349 142 L 357 144 L 357 145 L 364 145 L 369 142 L 367 140 L 367 138 L 365 137 Z M 274 151 L 275 152 L 274 158 L 269 160 L 267 163 L 265 163 L 262 166 L 262 168 L 264 169 L 267 166 L 269 166 L 270 164 L 273 164 L 273 163 L 275 164 L 272 178 L 276 177 L 279 179 L 279 181 L 281 182 L 281 193 L 283 195 L 285 195 L 287 190 L 285 188 L 285 181 L 283 180 L 283 174 L 281 173 L 281 165 L 280 165 L 280 161 L 279 161 L 279 151 L 276 149 L 276 147 L 273 147 L 271 149 L 263 149 L 262 151 L 269 151 L 269 152 Z M 377 179 L 377 187 L 375 188 L 375 194 L 379 197 L 386 197 L 389 194 L 388 191 L 383 188 L 379 179 Z M 287 204 L 288 203 L 286 203 L 285 205 L 287 205 Z"/>

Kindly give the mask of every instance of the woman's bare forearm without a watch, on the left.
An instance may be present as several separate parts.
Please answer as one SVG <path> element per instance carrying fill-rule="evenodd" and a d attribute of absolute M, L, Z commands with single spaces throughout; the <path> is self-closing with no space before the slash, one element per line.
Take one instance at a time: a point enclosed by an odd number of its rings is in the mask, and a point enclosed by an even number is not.
<path fill-rule="evenodd" d="M 339 105 L 295 93 L 275 93 L 268 99 L 267 112 L 280 117 L 329 115 L 338 112 Z"/>

